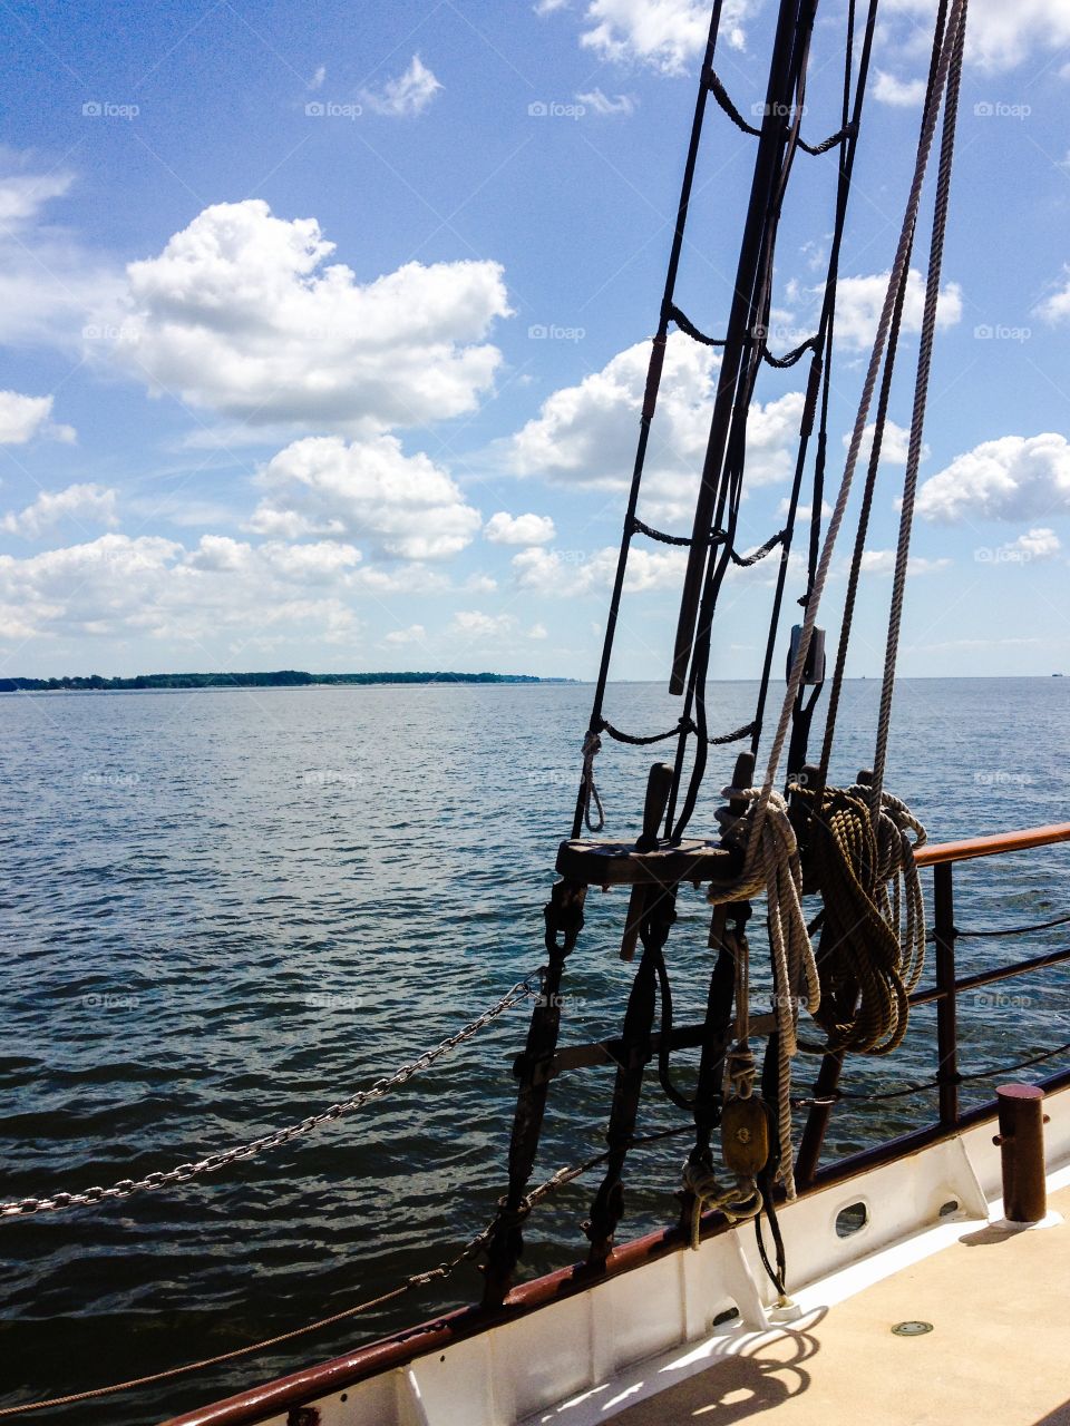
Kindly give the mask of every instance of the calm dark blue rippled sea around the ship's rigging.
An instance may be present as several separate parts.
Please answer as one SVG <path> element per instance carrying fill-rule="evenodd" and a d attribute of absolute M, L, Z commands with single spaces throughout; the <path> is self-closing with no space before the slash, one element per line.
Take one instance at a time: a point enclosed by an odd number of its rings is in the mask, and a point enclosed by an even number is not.
<path fill-rule="evenodd" d="M 618 684 L 606 713 L 656 730 L 676 706 Z M 719 684 L 716 720 L 753 686 Z M 541 963 L 541 907 L 566 834 L 591 690 L 368 687 L 0 697 L 4 1034 L 0 1196 L 167 1169 L 315 1112 L 452 1032 Z M 876 682 L 847 684 L 837 777 L 872 761 Z M 1070 816 L 1070 679 L 906 680 L 889 787 L 933 840 Z M 638 830 L 649 750 L 609 744 L 609 831 Z M 710 766 L 706 817 L 732 766 Z M 700 817 L 696 819 L 696 829 Z M 959 870 L 962 927 L 1070 911 L 1069 848 Z M 926 877 L 926 883 L 927 883 Z M 708 910 L 681 898 L 678 1015 L 705 997 Z M 571 960 L 562 1040 L 619 1025 L 622 894 L 595 893 Z M 1070 928 L 960 943 L 963 971 L 1039 954 Z M 756 955 L 762 941 L 755 935 Z M 963 1068 L 1070 1040 L 1059 971 L 962 1007 Z M 504 1185 L 518 1008 L 391 1098 L 263 1158 L 163 1194 L 0 1222 L 0 1400 L 74 1392 L 327 1316 L 432 1266 Z M 932 1015 L 857 1087 L 932 1074 Z M 688 1060 L 683 1061 L 686 1074 Z M 1043 1067 L 1041 1067 L 1043 1068 Z M 799 1067 L 796 1082 L 812 1078 Z M 601 1148 L 606 1070 L 555 1082 L 539 1169 Z M 986 1097 L 989 1085 L 972 1087 Z M 837 1114 L 846 1151 L 927 1115 L 932 1097 Z M 643 1128 L 676 1122 L 656 1092 Z M 636 1155 L 628 1219 L 676 1209 L 683 1142 Z M 593 1178 L 529 1225 L 528 1272 L 581 1255 Z M 464 1271 L 285 1352 L 50 1420 L 133 1426 L 429 1316 L 479 1291 Z M 29 1417 L 40 1420 L 40 1416 Z"/>

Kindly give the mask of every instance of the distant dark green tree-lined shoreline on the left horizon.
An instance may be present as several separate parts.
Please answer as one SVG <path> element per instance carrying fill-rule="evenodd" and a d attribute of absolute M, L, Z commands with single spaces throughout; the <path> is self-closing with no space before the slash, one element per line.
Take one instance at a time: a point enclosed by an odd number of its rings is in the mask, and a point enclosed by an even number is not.
<path fill-rule="evenodd" d="M 305 673 L 278 669 L 272 673 L 140 673 L 130 679 L 100 674 L 61 679 L 0 679 L 0 693 L 158 693 L 198 689 L 315 689 L 414 684 L 576 683 L 576 679 L 539 679 L 534 673 Z"/>

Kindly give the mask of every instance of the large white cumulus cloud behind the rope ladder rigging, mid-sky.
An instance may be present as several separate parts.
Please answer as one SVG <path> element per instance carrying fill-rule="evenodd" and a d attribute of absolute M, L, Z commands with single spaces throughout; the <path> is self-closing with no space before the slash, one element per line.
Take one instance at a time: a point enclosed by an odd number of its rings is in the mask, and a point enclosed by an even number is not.
<path fill-rule="evenodd" d="M 509 442 L 506 463 L 516 475 L 625 489 L 635 459 L 651 348 L 638 342 L 542 404 Z M 682 332 L 669 337 L 658 418 L 643 475 L 643 511 L 656 519 L 686 519 L 695 508 L 718 356 Z M 803 396 L 788 392 L 765 406 L 755 404 L 748 429 L 748 485 L 770 485 L 792 471 Z"/>

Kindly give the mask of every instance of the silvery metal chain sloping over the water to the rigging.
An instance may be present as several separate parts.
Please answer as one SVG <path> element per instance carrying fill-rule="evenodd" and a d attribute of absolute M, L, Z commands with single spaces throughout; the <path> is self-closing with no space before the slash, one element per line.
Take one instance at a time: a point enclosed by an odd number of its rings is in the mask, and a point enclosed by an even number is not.
<path fill-rule="evenodd" d="M 16 1199 L 9 1204 L 0 1204 L 0 1218 L 29 1218 L 33 1214 L 56 1214 L 66 1208 L 86 1208 L 91 1204 L 101 1204 L 110 1198 L 130 1198 L 131 1194 L 147 1192 L 157 1188 L 170 1188 L 173 1184 L 185 1184 L 191 1178 L 197 1178 L 200 1174 L 217 1174 L 220 1169 L 227 1168 L 231 1164 L 237 1164 L 240 1159 L 253 1158 L 257 1154 L 265 1154 L 270 1149 L 280 1148 L 282 1144 L 288 1144 L 291 1139 L 300 1138 L 305 1134 L 311 1134 L 318 1129 L 321 1124 L 328 1124 L 332 1119 L 341 1119 L 344 1114 L 351 1114 L 354 1109 L 362 1109 L 365 1104 L 372 1099 L 381 1099 L 391 1089 L 399 1088 L 407 1084 L 415 1074 L 422 1070 L 428 1070 L 437 1060 L 442 1055 L 448 1055 L 451 1050 L 457 1050 L 472 1035 L 478 1034 L 485 1025 L 504 1015 L 506 1010 L 512 1010 L 514 1005 L 519 1005 L 529 995 L 538 992 L 542 985 L 544 968 L 532 971 L 525 975 L 524 980 L 516 981 L 512 990 L 506 991 L 501 1000 L 495 1001 L 489 1010 L 485 1010 L 478 1020 L 458 1030 L 457 1034 L 449 1035 L 442 1040 L 432 1050 L 425 1050 L 422 1055 L 417 1060 L 411 1060 L 408 1064 L 401 1065 L 395 1070 L 392 1075 L 387 1075 L 382 1079 L 377 1079 L 367 1089 L 360 1089 L 357 1094 L 350 1095 L 348 1099 L 341 1099 L 338 1104 L 330 1105 L 327 1109 L 321 1109 L 320 1114 L 310 1114 L 307 1118 L 301 1119 L 298 1124 L 290 1124 L 282 1129 L 275 1129 L 272 1134 L 264 1134 L 258 1139 L 251 1139 L 248 1144 L 238 1144 L 233 1149 L 225 1149 L 221 1154 L 208 1154 L 203 1159 L 197 1159 L 194 1164 L 178 1164 L 175 1168 L 167 1172 L 146 1174 L 144 1178 L 123 1178 L 111 1188 L 87 1188 L 81 1194 L 53 1194 L 51 1198 L 23 1198 Z"/>

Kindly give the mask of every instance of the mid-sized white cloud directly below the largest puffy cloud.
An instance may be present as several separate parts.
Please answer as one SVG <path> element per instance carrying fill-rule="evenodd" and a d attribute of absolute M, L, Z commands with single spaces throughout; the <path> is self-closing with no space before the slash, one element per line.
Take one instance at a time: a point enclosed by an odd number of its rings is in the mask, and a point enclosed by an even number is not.
<path fill-rule="evenodd" d="M 307 436 L 280 451 L 257 476 L 265 492 L 250 529 L 368 540 L 372 553 L 447 559 L 475 538 L 479 512 L 424 452 L 407 456 L 397 436 L 347 445 Z"/>

